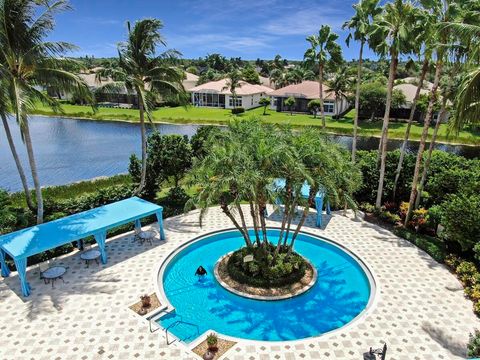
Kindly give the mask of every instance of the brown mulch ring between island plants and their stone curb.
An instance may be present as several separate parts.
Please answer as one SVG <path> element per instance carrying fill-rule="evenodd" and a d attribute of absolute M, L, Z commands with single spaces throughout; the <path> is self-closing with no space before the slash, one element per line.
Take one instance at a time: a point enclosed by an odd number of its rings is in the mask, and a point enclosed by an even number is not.
<path fill-rule="evenodd" d="M 230 255 L 231 256 L 231 255 Z M 227 271 L 227 263 L 230 256 L 226 256 L 222 259 L 220 264 L 218 265 L 218 275 L 220 276 L 221 280 L 224 281 L 228 286 L 232 289 L 240 291 L 242 293 L 250 294 L 250 295 L 257 295 L 257 296 L 283 296 L 283 295 L 292 295 L 294 296 L 300 290 L 302 290 L 305 286 L 310 284 L 313 280 L 314 272 L 311 265 L 307 264 L 307 269 L 305 270 L 305 275 L 300 281 L 277 288 L 259 288 L 251 285 L 241 284 L 235 280 L 233 280 Z"/>

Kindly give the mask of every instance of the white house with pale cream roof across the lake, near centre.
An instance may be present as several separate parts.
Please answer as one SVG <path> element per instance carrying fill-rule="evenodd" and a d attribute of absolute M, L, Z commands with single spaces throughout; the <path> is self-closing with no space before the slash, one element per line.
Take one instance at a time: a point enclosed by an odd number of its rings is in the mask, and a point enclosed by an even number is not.
<path fill-rule="evenodd" d="M 236 104 L 234 106 L 233 95 L 228 86 L 228 80 L 222 79 L 211 81 L 191 88 L 189 92 L 192 96 L 192 104 L 198 107 L 217 107 L 233 109 L 234 107 L 243 107 L 252 109 L 260 106 L 259 101 L 272 89 L 263 85 L 253 85 L 246 81 L 240 81 L 240 86 L 236 89 Z"/>

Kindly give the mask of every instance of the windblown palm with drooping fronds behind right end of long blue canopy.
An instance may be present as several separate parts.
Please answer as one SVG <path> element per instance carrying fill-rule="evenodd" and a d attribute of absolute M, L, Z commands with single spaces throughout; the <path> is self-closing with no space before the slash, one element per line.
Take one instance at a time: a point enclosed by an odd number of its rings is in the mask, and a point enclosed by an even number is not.
<path fill-rule="evenodd" d="M 118 67 L 100 70 L 98 80 L 109 76 L 114 82 L 102 86 L 101 91 L 134 93 L 138 99 L 140 132 L 142 142 L 142 171 L 136 193 L 145 186 L 147 172 L 147 137 L 145 115 L 152 121 L 152 110 L 159 96 L 176 98 L 180 103 L 187 102 L 182 85 L 184 72 L 174 66 L 180 55 L 175 50 L 167 50 L 156 55 L 157 46 L 166 46 L 160 34 L 163 24 L 158 19 L 144 19 L 135 22 L 133 28 L 127 22 L 127 40 L 118 46 Z"/>

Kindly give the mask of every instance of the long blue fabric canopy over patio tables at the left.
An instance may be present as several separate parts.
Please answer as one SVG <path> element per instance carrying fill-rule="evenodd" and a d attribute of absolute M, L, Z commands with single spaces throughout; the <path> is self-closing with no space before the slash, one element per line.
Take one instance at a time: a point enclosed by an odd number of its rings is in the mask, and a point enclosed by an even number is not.
<path fill-rule="evenodd" d="M 162 212 L 161 206 L 138 197 L 132 197 L 0 236 L 1 274 L 3 277 L 10 274 L 5 263 L 5 254 L 8 254 L 17 267 L 22 293 L 24 296 L 28 296 L 30 295 L 30 285 L 27 282 L 26 270 L 29 256 L 73 241 L 80 241 L 88 236 L 94 236 L 102 263 L 106 264 L 105 241 L 109 229 L 129 222 L 135 222 L 135 228 L 139 229 L 140 219 L 155 214 L 160 228 L 160 239 L 164 240 Z"/>

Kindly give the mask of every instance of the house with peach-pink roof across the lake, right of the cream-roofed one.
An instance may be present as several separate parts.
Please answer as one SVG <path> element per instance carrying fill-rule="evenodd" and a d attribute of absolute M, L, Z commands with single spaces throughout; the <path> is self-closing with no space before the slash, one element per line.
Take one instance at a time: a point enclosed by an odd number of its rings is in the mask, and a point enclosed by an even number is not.
<path fill-rule="evenodd" d="M 306 80 L 299 84 L 292 84 L 271 91 L 268 94 L 272 98 L 271 109 L 276 111 L 310 112 L 308 103 L 310 100 L 320 99 L 320 88 L 317 81 Z M 284 102 L 289 97 L 295 98 L 293 109 L 285 106 Z M 329 87 L 323 84 L 323 110 L 326 115 L 341 115 L 349 109 L 349 103 L 345 95 L 338 99 L 329 91 Z"/>

